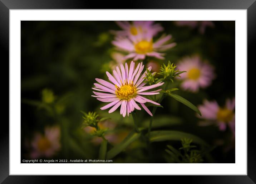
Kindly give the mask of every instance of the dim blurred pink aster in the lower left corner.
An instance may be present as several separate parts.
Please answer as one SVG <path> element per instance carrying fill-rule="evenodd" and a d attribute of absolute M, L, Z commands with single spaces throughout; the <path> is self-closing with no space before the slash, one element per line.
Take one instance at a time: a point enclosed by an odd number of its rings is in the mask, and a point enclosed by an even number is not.
<path fill-rule="evenodd" d="M 31 142 L 31 158 L 51 157 L 60 149 L 59 127 L 46 127 L 44 135 L 35 133 Z"/>

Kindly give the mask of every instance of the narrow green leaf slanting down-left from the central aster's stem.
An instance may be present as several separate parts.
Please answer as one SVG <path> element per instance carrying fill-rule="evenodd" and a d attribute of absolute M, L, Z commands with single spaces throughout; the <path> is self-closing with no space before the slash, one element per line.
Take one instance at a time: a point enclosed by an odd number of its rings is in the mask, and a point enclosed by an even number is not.
<path fill-rule="evenodd" d="M 122 152 L 129 144 L 131 144 L 133 141 L 137 140 L 141 136 L 141 133 L 137 133 L 132 131 L 131 133 L 128 134 L 128 136 L 118 145 L 113 147 L 107 152 L 107 157 L 106 159 L 112 159 L 115 157 L 117 154 Z"/>

